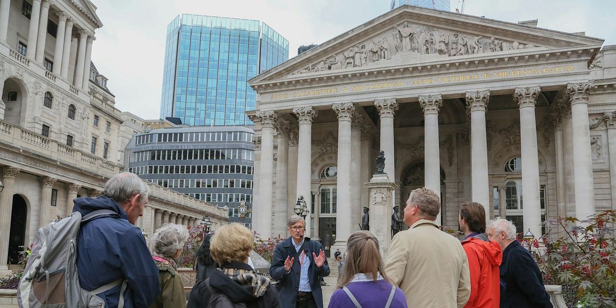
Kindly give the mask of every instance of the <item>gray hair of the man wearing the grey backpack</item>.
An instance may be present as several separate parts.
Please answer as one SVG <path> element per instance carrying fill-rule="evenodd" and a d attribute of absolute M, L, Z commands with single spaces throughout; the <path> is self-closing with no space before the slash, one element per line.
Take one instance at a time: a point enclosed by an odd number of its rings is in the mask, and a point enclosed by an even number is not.
<path fill-rule="evenodd" d="M 131 172 L 116 174 L 105 184 L 105 196 L 120 205 L 130 201 L 137 193 L 139 193 L 139 203 L 143 203 L 148 198 L 148 186 L 144 180 Z"/>

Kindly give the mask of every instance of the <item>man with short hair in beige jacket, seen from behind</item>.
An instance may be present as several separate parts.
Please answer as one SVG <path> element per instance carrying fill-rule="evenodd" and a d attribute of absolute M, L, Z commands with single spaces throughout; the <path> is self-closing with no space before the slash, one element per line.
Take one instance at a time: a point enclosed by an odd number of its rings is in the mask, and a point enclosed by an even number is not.
<path fill-rule="evenodd" d="M 404 291 L 408 307 L 462 308 L 471 294 L 466 253 L 434 223 L 439 211 L 436 193 L 413 190 L 404 208 L 410 228 L 389 244 L 384 272 Z"/>

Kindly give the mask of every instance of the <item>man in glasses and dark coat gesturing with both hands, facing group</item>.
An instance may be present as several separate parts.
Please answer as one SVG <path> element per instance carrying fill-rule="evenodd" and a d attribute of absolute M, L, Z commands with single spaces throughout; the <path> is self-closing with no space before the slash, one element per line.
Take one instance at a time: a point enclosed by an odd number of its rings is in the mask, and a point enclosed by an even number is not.
<path fill-rule="evenodd" d="M 330 275 L 323 245 L 304 237 L 306 222 L 293 215 L 286 222 L 291 237 L 276 246 L 270 275 L 278 280 L 284 308 L 323 308 L 319 277 Z"/>

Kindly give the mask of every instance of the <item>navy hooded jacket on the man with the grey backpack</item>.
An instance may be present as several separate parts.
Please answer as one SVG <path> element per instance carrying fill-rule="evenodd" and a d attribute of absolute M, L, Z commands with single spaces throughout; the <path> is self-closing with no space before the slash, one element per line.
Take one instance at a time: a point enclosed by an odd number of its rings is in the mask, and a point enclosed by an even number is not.
<path fill-rule="evenodd" d="M 94 290 L 120 278 L 126 279 L 125 308 L 148 307 L 160 293 L 158 267 L 152 259 L 139 228 L 128 222 L 120 205 L 110 198 L 76 198 L 73 212 L 85 216 L 97 209 L 110 209 L 117 217 L 100 217 L 86 222 L 77 240 L 79 283 Z M 105 307 L 118 307 L 121 286 L 98 294 Z"/>

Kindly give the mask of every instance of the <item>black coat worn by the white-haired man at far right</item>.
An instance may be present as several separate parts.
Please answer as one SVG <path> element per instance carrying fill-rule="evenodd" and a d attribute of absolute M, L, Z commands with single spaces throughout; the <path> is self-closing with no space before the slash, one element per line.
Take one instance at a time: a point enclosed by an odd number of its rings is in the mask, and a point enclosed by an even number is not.
<path fill-rule="evenodd" d="M 500 277 L 501 308 L 552 308 L 535 259 L 517 241 L 503 251 Z"/>

